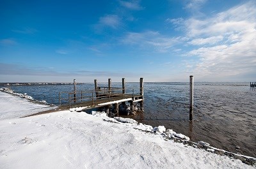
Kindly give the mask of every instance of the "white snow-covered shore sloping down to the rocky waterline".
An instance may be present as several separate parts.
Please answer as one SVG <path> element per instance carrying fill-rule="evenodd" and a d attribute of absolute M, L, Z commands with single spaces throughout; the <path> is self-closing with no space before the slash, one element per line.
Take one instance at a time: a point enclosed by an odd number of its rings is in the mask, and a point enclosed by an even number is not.
<path fill-rule="evenodd" d="M 69 110 L 17 118 L 15 112 L 28 110 L 29 102 L 4 94 L 0 112 L 8 118 L 0 119 L 1 168 L 254 168 L 168 140 L 163 127 L 132 119 Z M 165 135 L 173 134 L 168 130 Z"/>

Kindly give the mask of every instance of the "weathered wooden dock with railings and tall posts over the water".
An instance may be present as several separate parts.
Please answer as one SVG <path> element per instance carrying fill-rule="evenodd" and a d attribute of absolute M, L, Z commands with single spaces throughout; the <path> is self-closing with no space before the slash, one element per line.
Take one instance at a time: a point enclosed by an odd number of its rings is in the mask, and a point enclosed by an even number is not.
<path fill-rule="evenodd" d="M 108 79 L 108 87 L 100 87 L 95 82 L 95 89 L 91 91 L 77 91 L 76 80 L 74 80 L 74 91 L 59 92 L 59 104 L 63 108 L 74 108 L 74 110 L 88 110 L 92 108 L 111 108 L 114 106 L 115 115 L 119 115 L 119 105 L 128 102 L 131 112 L 140 103 L 140 111 L 143 111 L 143 78 L 140 78 L 140 89 L 127 89 L 125 78 L 122 78 L 122 87 L 111 87 L 111 79 Z"/>

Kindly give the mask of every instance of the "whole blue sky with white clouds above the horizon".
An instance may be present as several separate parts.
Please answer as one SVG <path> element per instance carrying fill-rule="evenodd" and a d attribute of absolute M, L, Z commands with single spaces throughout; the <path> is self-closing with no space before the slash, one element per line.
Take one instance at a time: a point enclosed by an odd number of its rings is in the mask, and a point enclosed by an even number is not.
<path fill-rule="evenodd" d="M 0 1 L 0 82 L 250 82 L 256 1 Z"/>

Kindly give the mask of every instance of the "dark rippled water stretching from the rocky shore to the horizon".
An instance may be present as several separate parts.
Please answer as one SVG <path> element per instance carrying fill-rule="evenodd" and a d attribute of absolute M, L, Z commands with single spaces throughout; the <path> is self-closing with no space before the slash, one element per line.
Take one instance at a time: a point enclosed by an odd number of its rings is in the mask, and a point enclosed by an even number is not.
<path fill-rule="evenodd" d="M 101 84 L 107 86 L 107 84 Z M 138 89 L 138 83 L 127 83 Z M 113 83 L 113 87 L 121 87 Z M 77 85 L 78 90 L 94 84 Z M 58 105 L 58 92 L 72 91 L 73 85 L 12 86 L 38 100 Z M 198 142 L 256 157 L 256 90 L 248 84 L 195 83 L 194 120 L 189 122 L 188 83 L 145 83 L 144 113 L 130 116 L 152 126 L 163 125 Z"/>

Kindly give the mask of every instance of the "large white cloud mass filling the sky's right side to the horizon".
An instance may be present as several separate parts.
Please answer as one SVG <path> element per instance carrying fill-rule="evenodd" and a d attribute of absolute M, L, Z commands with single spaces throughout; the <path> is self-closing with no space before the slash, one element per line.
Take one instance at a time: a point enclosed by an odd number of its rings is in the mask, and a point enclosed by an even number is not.
<path fill-rule="evenodd" d="M 200 59 L 193 73 L 202 80 L 218 81 L 251 75 L 256 68 L 255 16 L 256 2 L 249 1 L 211 18 L 173 20 L 186 28 L 187 44 L 198 46 L 186 53 Z"/>

